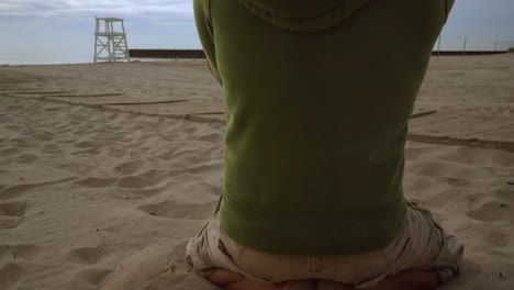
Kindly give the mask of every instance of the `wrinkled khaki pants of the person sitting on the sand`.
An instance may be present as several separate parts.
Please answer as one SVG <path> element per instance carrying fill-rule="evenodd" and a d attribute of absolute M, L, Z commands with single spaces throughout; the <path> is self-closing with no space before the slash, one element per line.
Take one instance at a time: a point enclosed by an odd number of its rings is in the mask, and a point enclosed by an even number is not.
<path fill-rule="evenodd" d="M 351 233 L 348 233 L 349 235 Z M 258 252 L 226 236 L 217 213 L 187 247 L 188 263 L 202 276 L 225 268 L 250 280 L 280 282 L 322 279 L 370 288 L 406 269 L 433 269 L 440 282 L 459 272 L 463 246 L 433 220 L 428 210 L 409 204 L 404 230 L 384 248 L 353 256 L 291 256 Z"/>

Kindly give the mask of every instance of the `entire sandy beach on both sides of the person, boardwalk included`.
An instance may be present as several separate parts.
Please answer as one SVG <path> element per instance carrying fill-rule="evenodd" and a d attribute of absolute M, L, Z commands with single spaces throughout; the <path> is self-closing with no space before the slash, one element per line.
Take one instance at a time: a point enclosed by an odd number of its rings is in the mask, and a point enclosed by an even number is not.
<path fill-rule="evenodd" d="M 203 60 L 0 66 L 0 290 L 216 289 L 185 247 L 223 183 Z M 465 246 L 444 290 L 514 289 L 514 54 L 434 57 L 404 191 Z"/>

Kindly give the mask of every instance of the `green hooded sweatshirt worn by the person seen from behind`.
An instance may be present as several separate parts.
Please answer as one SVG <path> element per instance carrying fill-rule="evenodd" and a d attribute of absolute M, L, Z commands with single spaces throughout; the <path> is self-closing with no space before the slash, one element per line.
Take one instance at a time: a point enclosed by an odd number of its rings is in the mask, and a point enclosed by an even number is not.
<path fill-rule="evenodd" d="M 405 224 L 407 120 L 451 0 L 194 0 L 226 108 L 222 230 L 351 255 Z"/>

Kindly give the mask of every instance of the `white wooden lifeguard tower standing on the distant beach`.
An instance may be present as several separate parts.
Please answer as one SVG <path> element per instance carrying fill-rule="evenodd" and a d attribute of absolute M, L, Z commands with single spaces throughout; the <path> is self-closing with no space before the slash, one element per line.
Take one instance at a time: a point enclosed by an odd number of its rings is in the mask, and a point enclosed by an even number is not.
<path fill-rule="evenodd" d="M 94 18 L 94 63 L 98 60 L 130 60 L 123 19 Z"/>

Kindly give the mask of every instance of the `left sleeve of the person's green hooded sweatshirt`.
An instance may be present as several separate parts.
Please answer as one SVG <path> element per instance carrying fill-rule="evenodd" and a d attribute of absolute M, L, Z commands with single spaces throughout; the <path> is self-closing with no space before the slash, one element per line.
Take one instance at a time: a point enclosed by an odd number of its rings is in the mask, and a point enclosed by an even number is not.
<path fill-rule="evenodd" d="M 193 10 L 198 35 L 208 59 L 209 69 L 220 85 L 223 86 L 220 72 L 217 71 L 214 33 L 210 18 L 210 0 L 193 0 Z"/>

